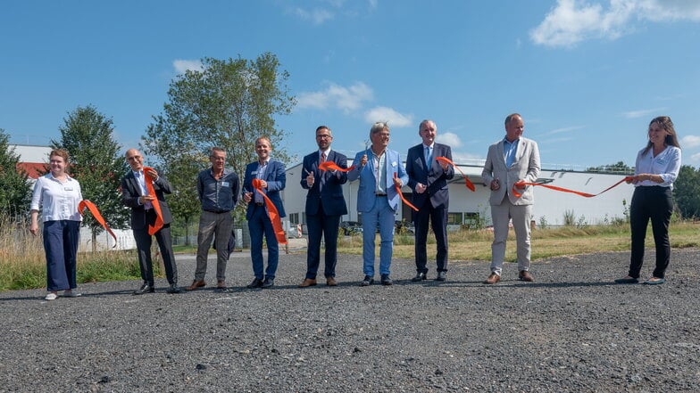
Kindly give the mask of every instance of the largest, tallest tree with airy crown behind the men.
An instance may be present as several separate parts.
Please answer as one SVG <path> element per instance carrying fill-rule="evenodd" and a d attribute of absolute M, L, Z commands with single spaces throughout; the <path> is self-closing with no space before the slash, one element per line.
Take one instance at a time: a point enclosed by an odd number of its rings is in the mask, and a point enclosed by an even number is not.
<path fill-rule="evenodd" d="M 246 164 L 256 158 L 254 142 L 260 135 L 270 137 L 275 159 L 287 163 L 286 133 L 275 127 L 274 116 L 291 113 L 296 99 L 288 94 L 289 74 L 279 70 L 277 57 L 204 58 L 202 64 L 203 70 L 187 70 L 171 82 L 162 114 L 142 137 L 144 152 L 160 161 L 173 187 L 196 187 L 196 172 L 209 166 L 212 146 L 225 149 L 227 166 L 243 176 Z M 191 192 L 173 195 L 173 214 L 184 218 L 198 213 L 189 209 L 191 198 Z M 237 209 L 241 216 L 242 208 Z"/>

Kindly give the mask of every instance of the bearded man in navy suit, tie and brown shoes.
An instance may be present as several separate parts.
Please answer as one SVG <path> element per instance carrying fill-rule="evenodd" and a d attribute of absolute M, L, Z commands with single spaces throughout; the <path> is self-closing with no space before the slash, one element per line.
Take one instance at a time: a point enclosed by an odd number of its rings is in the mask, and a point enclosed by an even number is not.
<path fill-rule="evenodd" d="M 302 187 L 306 194 L 306 225 L 309 230 L 309 248 L 306 253 L 306 277 L 299 287 L 316 285 L 316 273 L 321 261 L 321 236 L 326 242 L 326 265 L 324 275 L 326 285 L 336 286 L 337 230 L 340 216 L 347 214 L 342 184 L 347 182 L 346 172 L 339 170 L 323 171 L 321 162 L 331 161 L 340 168 L 347 168 L 345 155 L 330 150 L 333 135 L 330 128 L 316 128 L 318 151 L 304 157 Z"/>

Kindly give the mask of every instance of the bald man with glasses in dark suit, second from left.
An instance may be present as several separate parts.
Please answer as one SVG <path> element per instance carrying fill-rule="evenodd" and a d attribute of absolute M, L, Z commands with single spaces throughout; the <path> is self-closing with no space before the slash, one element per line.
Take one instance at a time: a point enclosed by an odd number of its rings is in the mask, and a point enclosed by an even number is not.
<path fill-rule="evenodd" d="M 153 201 L 158 199 L 162 212 L 162 228 L 155 234 L 155 240 L 161 249 L 162 263 L 165 266 L 165 276 L 170 286 L 168 293 L 179 293 L 178 266 L 175 264 L 175 255 L 172 252 L 171 239 L 171 209 L 165 201 L 165 194 L 171 193 L 171 184 L 154 169 L 148 170 L 148 176 L 154 178 L 153 188 L 155 195 L 149 195 L 144 173 L 144 158 L 136 149 L 126 152 L 126 160 L 131 167 L 129 173 L 121 179 L 121 202 L 131 208 L 131 229 L 134 231 L 136 247 L 138 251 L 138 266 L 141 269 L 141 278 L 144 280 L 141 288 L 134 291 L 134 295 L 152 293 L 155 291 L 153 261 L 151 260 L 151 235 L 148 234 L 148 225 L 154 225 L 156 213 Z"/>

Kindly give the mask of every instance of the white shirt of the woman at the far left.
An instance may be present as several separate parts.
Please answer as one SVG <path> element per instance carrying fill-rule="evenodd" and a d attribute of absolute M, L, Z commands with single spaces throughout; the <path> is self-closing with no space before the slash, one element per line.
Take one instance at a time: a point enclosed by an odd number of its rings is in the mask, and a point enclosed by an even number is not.
<path fill-rule="evenodd" d="M 78 205 L 83 200 L 80 184 L 66 175 L 61 182 L 51 173 L 37 178 L 31 195 L 31 210 L 41 208 L 42 221 L 71 220 L 82 221 Z"/>

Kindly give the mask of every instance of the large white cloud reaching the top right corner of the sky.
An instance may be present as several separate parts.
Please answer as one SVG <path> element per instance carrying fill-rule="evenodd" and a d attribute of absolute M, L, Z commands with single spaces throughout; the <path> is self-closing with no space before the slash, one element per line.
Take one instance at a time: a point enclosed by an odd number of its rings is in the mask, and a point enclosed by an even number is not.
<path fill-rule="evenodd" d="M 604 8 L 604 5 L 607 6 Z M 639 20 L 700 21 L 695 0 L 557 0 L 545 20 L 529 32 L 537 45 L 573 46 L 590 38 L 615 39 L 635 29 Z"/>

